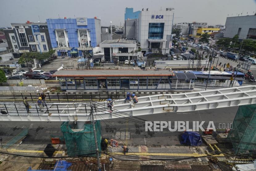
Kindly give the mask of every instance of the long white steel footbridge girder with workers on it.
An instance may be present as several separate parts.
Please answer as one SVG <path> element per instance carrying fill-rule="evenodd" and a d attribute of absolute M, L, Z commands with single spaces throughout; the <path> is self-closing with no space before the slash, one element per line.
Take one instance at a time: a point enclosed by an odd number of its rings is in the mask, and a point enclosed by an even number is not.
<path fill-rule="evenodd" d="M 215 109 L 239 105 L 256 104 L 256 85 L 196 91 L 179 94 L 158 94 L 138 97 L 138 103 L 131 106 L 124 99 L 115 100 L 113 112 L 109 112 L 107 102 L 97 102 L 95 120 L 117 117 L 141 116 L 165 112 L 187 112 Z M 15 108 L 14 108 L 15 104 Z M 23 103 L 0 103 L 0 121 L 88 121 L 90 120 L 89 103 L 48 103 L 43 112 L 33 110 L 27 113 Z"/>

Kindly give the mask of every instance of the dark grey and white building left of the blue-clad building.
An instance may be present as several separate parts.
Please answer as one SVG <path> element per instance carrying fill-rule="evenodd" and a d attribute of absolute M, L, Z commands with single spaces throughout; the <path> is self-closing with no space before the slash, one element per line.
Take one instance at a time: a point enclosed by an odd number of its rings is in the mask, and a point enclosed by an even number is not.
<path fill-rule="evenodd" d="M 33 34 L 32 26 L 37 27 Z M 9 49 L 14 58 L 19 58 L 23 52 L 48 52 L 52 49 L 47 23 L 11 23 L 11 29 L 4 30 Z"/>

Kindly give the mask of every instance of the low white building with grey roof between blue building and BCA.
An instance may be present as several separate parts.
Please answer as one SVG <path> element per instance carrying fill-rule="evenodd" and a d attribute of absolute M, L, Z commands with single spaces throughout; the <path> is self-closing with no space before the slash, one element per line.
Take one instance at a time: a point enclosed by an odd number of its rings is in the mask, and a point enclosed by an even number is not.
<path fill-rule="evenodd" d="M 125 61 L 137 59 L 137 43 L 134 40 L 114 39 L 100 43 L 105 61 Z"/>

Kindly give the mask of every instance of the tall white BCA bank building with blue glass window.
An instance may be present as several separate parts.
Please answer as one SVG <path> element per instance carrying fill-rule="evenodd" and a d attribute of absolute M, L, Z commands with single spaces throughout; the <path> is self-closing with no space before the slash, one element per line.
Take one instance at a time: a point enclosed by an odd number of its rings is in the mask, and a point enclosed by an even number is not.
<path fill-rule="evenodd" d="M 173 12 L 168 8 L 159 11 L 141 11 L 138 17 L 138 41 L 142 53 L 170 52 Z"/>

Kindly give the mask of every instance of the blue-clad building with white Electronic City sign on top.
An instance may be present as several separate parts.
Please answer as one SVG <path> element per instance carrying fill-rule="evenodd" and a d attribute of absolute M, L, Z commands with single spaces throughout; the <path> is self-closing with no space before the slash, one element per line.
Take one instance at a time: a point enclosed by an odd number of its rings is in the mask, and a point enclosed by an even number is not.
<path fill-rule="evenodd" d="M 83 56 L 101 43 L 101 20 L 97 18 L 47 19 L 52 48 L 58 56 Z"/>

